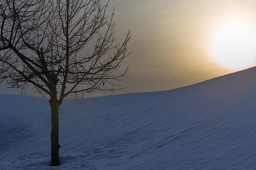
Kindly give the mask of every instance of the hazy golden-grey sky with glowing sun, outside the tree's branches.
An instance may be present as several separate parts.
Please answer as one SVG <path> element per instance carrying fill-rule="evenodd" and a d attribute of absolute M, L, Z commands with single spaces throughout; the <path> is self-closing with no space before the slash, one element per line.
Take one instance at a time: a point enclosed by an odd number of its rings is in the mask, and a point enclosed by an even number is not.
<path fill-rule="evenodd" d="M 106 0 L 102 0 L 104 2 Z M 121 82 L 127 88 L 95 92 L 92 96 L 170 90 L 256 64 L 256 41 L 250 39 L 256 39 L 254 0 L 110 0 L 108 11 L 114 7 L 116 43 L 122 42 L 128 30 L 131 31 L 128 51 L 132 54 L 120 68 L 122 72 L 129 66 Z M 247 34 L 241 34 L 242 38 L 234 36 L 240 35 L 241 29 Z M 243 39 L 246 36 L 248 39 Z M 227 37 L 228 44 L 238 39 L 243 49 L 226 48 L 221 43 L 226 41 L 223 37 Z M 228 51 L 223 51 L 223 47 Z M 233 57 L 235 55 L 237 57 Z M 228 61 L 223 64 L 218 57 Z M 233 61 L 247 63 L 234 66 Z M 0 84 L 0 93 L 19 92 Z M 25 92 L 37 95 L 32 89 Z"/>

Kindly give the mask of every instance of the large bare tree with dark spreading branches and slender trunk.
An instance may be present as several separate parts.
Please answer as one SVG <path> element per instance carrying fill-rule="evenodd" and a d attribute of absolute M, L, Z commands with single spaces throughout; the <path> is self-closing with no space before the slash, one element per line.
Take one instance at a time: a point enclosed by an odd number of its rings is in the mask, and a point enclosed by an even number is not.
<path fill-rule="evenodd" d="M 122 74 L 116 70 L 130 54 L 130 31 L 115 45 L 114 10 L 107 18 L 107 7 L 100 0 L 0 1 L 0 82 L 21 92 L 32 85 L 50 96 L 52 166 L 60 164 L 58 109 L 63 99 L 122 89 L 116 83 L 127 69 Z"/>

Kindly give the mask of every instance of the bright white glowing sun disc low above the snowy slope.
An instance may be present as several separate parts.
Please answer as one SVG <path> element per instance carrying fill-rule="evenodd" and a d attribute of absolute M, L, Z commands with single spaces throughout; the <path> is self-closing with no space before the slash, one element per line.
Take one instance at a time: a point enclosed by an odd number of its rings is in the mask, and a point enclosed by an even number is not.
<path fill-rule="evenodd" d="M 213 31 L 210 51 L 215 61 L 232 70 L 253 66 L 256 57 L 255 30 L 243 21 L 227 21 Z"/>

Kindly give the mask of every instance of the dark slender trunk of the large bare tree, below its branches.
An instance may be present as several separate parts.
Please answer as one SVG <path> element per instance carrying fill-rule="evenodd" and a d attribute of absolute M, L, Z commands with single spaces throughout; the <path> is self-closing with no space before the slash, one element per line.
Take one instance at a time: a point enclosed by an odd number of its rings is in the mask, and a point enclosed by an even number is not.
<path fill-rule="evenodd" d="M 59 166 L 59 105 L 56 94 L 51 96 L 49 101 L 52 114 L 52 131 L 51 131 L 51 166 Z"/>

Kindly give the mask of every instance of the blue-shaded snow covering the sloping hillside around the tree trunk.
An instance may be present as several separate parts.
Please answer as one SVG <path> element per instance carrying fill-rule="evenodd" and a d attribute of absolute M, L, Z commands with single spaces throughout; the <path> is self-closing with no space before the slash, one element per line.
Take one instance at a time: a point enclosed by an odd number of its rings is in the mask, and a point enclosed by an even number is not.
<path fill-rule="evenodd" d="M 160 92 L 65 100 L 50 165 L 48 98 L 0 94 L 0 169 L 256 167 L 256 67 Z"/>

